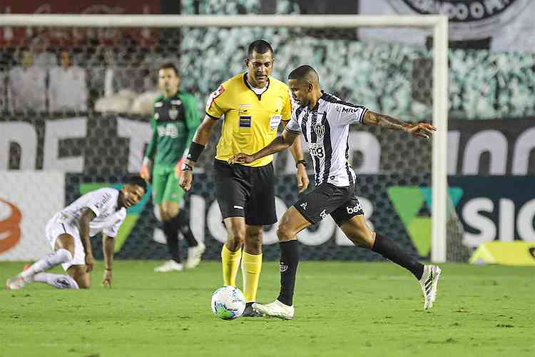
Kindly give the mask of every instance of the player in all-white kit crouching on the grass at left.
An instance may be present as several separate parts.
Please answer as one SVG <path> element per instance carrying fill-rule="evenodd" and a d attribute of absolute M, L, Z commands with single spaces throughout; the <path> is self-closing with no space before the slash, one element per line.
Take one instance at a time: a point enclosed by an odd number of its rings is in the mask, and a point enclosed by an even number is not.
<path fill-rule="evenodd" d="M 121 188 L 100 188 L 78 198 L 46 223 L 46 239 L 53 253 L 6 281 L 8 290 L 18 290 L 38 281 L 56 288 L 90 288 L 93 252 L 90 237 L 102 232 L 106 270 L 103 285 L 111 286 L 113 245 L 119 227 L 126 218 L 126 208 L 135 206 L 147 190 L 141 177 L 133 177 Z M 61 264 L 66 274 L 45 273 Z"/>

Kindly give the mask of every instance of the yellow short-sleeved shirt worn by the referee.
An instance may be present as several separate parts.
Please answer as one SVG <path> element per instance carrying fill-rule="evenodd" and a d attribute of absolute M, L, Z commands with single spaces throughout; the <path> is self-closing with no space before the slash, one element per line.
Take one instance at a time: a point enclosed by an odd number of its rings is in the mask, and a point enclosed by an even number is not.
<path fill-rule="evenodd" d="M 254 154 L 277 136 L 280 121 L 290 120 L 292 104 L 286 84 L 269 77 L 263 94 L 255 94 L 245 81 L 245 73 L 221 84 L 206 104 L 213 119 L 225 115 L 215 159 L 227 161 L 240 152 Z M 246 166 L 265 166 L 273 156 L 265 156 Z"/>

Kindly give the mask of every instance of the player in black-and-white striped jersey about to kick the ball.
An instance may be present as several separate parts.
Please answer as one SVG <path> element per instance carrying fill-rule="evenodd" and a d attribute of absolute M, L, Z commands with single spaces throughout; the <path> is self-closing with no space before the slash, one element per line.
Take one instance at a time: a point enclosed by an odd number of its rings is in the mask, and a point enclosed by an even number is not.
<path fill-rule="evenodd" d="M 315 189 L 288 208 L 279 221 L 280 294 L 277 300 L 267 305 L 254 303 L 253 309 L 265 316 L 293 318 L 295 275 L 299 263 L 296 235 L 328 215 L 356 246 L 371 249 L 413 273 L 422 286 L 424 308 L 431 308 L 437 294 L 440 268 L 422 265 L 394 241 L 371 231 L 366 225 L 364 212 L 355 196 L 357 177 L 347 162 L 350 150 L 347 137 L 350 124 L 383 126 L 425 139 L 429 139 L 436 129 L 430 124 L 410 124 L 376 114 L 320 91 L 319 76 L 311 66 L 298 67 L 288 79 L 299 107 L 292 111 L 292 118 L 282 135 L 255 154 L 240 153 L 228 160 L 229 164 L 250 163 L 286 149 L 302 134 L 315 169 Z"/>

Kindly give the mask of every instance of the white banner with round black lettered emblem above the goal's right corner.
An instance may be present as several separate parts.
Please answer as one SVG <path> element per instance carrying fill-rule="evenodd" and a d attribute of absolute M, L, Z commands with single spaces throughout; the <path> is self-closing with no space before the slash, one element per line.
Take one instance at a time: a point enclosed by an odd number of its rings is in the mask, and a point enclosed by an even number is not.
<path fill-rule="evenodd" d="M 490 38 L 493 51 L 533 51 L 535 1 L 529 0 L 374 0 L 360 1 L 362 15 L 443 14 L 449 18 L 449 39 Z M 417 29 L 359 29 L 363 41 L 425 44 L 430 33 Z"/>

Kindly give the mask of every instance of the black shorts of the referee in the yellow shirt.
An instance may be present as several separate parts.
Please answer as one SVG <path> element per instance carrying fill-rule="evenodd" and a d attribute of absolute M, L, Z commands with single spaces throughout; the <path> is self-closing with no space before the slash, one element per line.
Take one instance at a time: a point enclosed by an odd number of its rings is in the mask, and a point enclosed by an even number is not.
<path fill-rule="evenodd" d="M 245 224 L 267 226 L 277 221 L 273 165 L 229 165 L 215 160 L 215 197 L 223 219 L 245 217 Z"/>

